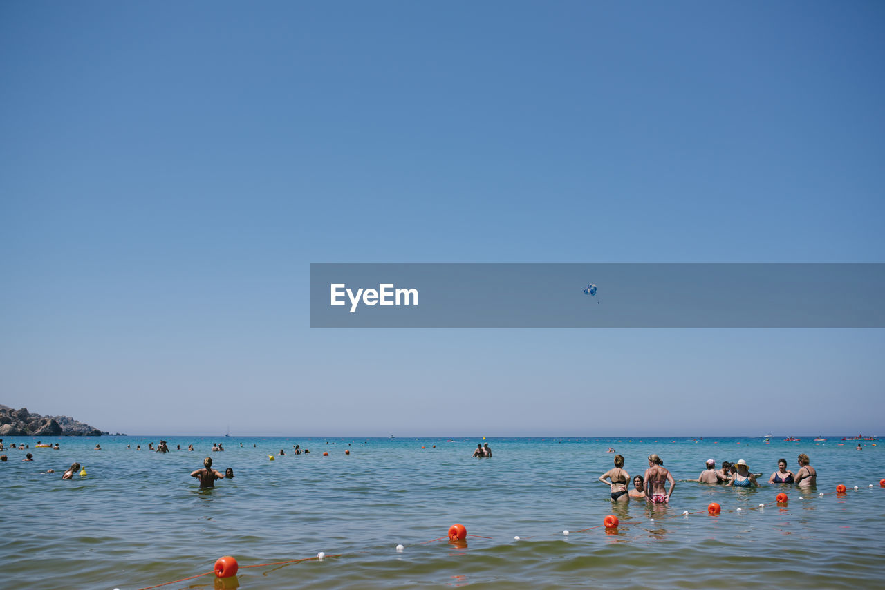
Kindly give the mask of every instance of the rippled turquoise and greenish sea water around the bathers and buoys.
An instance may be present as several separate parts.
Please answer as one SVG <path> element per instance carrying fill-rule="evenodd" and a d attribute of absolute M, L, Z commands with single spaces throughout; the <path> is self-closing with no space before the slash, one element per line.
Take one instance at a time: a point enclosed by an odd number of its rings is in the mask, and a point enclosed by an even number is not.
<path fill-rule="evenodd" d="M 170 453 L 147 450 L 160 438 Z M 58 451 L 7 437 L 7 447 L 29 444 L 35 461 L 22 463 L 25 452 L 7 449 L 10 460 L 0 464 L 0 586 L 144 588 L 211 571 L 220 556 L 235 556 L 242 568 L 323 551 L 322 561 L 162 587 L 882 587 L 880 441 L 863 441 L 857 451 L 841 436 L 783 438 L 490 438 L 494 456 L 473 459 L 481 437 L 63 437 L 51 440 Z M 210 452 L 213 441 L 227 450 Z M 103 450 L 93 449 L 96 442 Z M 194 452 L 186 450 L 191 443 Z M 295 444 L 311 454 L 291 455 Z M 596 481 L 612 466 L 610 446 L 627 458 L 631 475 L 658 453 L 676 479 L 696 478 L 707 458 L 745 459 L 764 474 L 760 482 L 779 457 L 797 471 L 804 452 L 818 486 L 678 482 L 668 506 L 613 507 Z M 269 461 L 281 448 L 287 455 Z M 233 467 L 235 479 L 199 490 L 189 472 L 204 456 L 219 471 Z M 62 480 L 74 461 L 88 476 Z M 40 472 L 50 468 L 56 473 Z M 849 488 L 842 497 L 840 483 Z M 786 508 L 773 503 L 781 491 L 789 494 Z M 722 506 L 719 517 L 706 514 L 710 502 Z M 686 517 L 686 510 L 700 513 Z M 620 518 L 617 533 L 599 526 L 608 514 Z M 455 523 L 478 536 L 466 546 L 435 540 Z"/>

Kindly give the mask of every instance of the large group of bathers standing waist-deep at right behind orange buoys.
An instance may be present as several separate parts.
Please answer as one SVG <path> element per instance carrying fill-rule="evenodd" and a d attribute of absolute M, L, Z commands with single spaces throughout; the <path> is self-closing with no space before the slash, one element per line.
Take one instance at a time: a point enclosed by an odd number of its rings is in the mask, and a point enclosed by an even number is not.
<path fill-rule="evenodd" d="M 637 475 L 633 479 L 634 489 L 629 489 L 630 475 L 624 470 L 624 457 L 614 456 L 614 469 L 605 471 L 599 476 L 599 481 L 612 489 L 612 502 L 629 502 L 629 500 L 644 500 L 653 504 L 666 504 L 670 502 L 676 480 L 673 474 L 664 468 L 664 461 L 657 455 L 648 457 L 649 468 L 643 475 Z M 811 460 L 802 453 L 797 457 L 799 469 L 796 473 L 787 469 L 787 460 L 778 459 L 777 471 L 774 471 L 768 483 L 771 484 L 796 484 L 798 487 L 814 487 L 817 484 L 817 471 L 812 467 Z M 706 461 L 704 471 L 701 471 L 697 479 L 683 479 L 704 484 L 725 484 L 727 487 L 758 487 L 757 478 L 761 473 L 751 473 L 750 466 L 743 459 L 732 464 L 722 462 L 722 469 L 716 469 L 716 462 L 712 459 Z M 670 484 L 669 490 L 666 487 Z"/>

